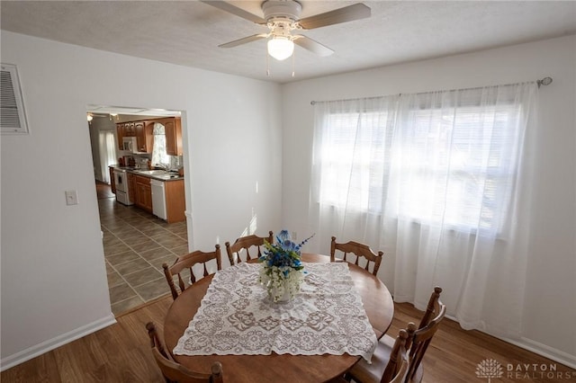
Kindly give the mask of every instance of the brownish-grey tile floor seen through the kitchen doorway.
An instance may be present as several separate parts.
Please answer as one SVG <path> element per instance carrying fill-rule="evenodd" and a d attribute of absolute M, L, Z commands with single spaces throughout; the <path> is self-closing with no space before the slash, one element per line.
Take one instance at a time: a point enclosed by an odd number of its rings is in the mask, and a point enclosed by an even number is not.
<path fill-rule="evenodd" d="M 167 224 L 134 206 L 124 206 L 97 185 L 104 258 L 115 316 L 170 293 L 162 263 L 188 253 L 185 222 Z"/>

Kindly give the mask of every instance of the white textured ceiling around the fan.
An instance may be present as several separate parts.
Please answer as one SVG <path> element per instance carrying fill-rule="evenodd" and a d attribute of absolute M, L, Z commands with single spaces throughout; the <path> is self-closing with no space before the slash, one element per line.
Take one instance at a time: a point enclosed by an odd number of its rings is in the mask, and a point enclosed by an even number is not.
<path fill-rule="evenodd" d="M 261 2 L 233 3 L 262 16 Z M 301 17 L 355 3 L 304 0 Z M 296 47 L 294 60 L 269 60 L 269 76 L 266 40 L 218 48 L 219 44 L 266 32 L 266 27 L 196 1 L 2 1 L 0 27 L 278 83 L 576 33 L 576 2 L 572 1 L 364 4 L 372 9 L 369 19 L 302 31 L 336 53 L 321 58 Z M 295 76 L 291 76 L 292 65 Z"/>

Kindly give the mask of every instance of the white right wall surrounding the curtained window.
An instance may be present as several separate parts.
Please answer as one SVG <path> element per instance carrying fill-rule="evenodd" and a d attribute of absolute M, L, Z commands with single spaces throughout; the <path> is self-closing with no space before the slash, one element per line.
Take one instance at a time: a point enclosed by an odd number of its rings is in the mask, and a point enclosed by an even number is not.
<path fill-rule="evenodd" d="M 327 76 L 283 86 L 283 224 L 307 225 L 313 108 L 311 101 L 350 99 L 531 81 L 539 91 L 534 214 L 522 345 L 576 365 L 576 37 Z M 297 182 L 296 182 L 297 180 Z M 329 252 L 329 244 L 320 250 Z M 393 260 L 385 259 L 384 282 Z M 497 298 L 497 297 L 494 297 Z"/>

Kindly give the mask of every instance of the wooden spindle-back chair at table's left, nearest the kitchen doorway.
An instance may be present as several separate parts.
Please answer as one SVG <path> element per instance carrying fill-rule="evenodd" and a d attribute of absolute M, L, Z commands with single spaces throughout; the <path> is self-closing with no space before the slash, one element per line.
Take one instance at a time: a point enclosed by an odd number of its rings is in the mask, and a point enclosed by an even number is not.
<path fill-rule="evenodd" d="M 193 266 L 199 263 L 202 263 L 203 267 L 203 274 L 202 278 L 209 275 L 208 268 L 206 267 L 206 263 L 211 260 L 216 260 L 216 269 L 222 270 L 222 257 L 220 254 L 220 245 L 215 246 L 215 250 L 213 252 L 202 252 L 200 250 L 196 250 L 193 253 L 186 254 L 179 256 L 176 258 L 175 263 L 172 266 L 168 266 L 167 263 L 162 264 L 162 268 L 164 269 L 164 275 L 166 276 L 166 281 L 168 282 L 168 286 L 170 287 L 170 291 L 172 292 L 172 298 L 178 298 L 178 290 L 174 284 L 174 275 L 178 275 L 178 286 L 180 287 L 180 292 L 184 291 L 190 284 L 194 283 L 196 280 L 196 276 L 193 272 Z M 189 272 L 189 278 L 185 276 L 185 271 Z M 184 278 L 183 278 L 184 274 Z M 186 285 L 185 281 L 189 281 L 189 284 Z"/>

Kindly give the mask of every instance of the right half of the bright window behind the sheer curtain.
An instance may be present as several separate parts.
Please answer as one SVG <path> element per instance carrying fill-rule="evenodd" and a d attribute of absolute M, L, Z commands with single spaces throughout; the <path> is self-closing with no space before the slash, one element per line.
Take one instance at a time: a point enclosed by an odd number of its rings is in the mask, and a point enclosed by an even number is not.
<path fill-rule="evenodd" d="M 401 214 L 425 224 L 498 230 L 515 177 L 517 107 L 410 111 L 398 162 Z"/>

